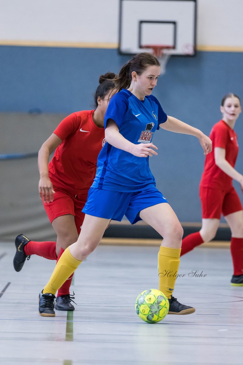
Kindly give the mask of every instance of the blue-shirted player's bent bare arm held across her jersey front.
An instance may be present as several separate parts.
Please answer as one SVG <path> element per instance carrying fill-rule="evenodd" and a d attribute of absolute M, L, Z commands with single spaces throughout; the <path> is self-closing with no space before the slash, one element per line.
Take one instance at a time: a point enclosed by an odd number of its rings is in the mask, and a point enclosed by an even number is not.
<path fill-rule="evenodd" d="M 105 139 L 110 145 L 137 157 L 152 157 L 153 155 L 157 155 L 157 152 L 154 150 L 158 148 L 153 143 L 139 143 L 139 145 L 136 145 L 124 138 L 119 132 L 117 124 L 112 119 L 108 119 L 106 123 Z"/>

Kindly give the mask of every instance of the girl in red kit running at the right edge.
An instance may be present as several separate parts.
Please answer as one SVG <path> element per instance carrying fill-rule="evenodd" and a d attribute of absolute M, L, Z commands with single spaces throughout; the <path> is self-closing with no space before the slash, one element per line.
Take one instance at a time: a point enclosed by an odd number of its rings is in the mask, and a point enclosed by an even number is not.
<path fill-rule="evenodd" d="M 220 111 L 222 120 L 216 123 L 209 135 L 213 153 L 206 155 L 200 182 L 202 227 L 182 240 L 181 255 L 203 242 L 211 241 L 223 214 L 231 230 L 231 255 L 234 274 L 231 285 L 243 286 L 243 211 L 232 180 L 238 181 L 243 192 L 243 176 L 234 168 L 239 146 L 234 131 L 241 112 L 240 98 L 235 94 L 223 97 Z"/>

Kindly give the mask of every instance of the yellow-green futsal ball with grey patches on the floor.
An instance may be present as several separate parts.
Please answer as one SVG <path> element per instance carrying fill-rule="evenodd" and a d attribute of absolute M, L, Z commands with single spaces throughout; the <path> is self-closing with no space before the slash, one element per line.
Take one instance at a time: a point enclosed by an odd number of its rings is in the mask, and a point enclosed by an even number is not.
<path fill-rule="evenodd" d="M 160 322 L 169 311 L 169 301 L 160 290 L 148 289 L 138 295 L 135 303 L 137 315 L 148 323 Z"/>

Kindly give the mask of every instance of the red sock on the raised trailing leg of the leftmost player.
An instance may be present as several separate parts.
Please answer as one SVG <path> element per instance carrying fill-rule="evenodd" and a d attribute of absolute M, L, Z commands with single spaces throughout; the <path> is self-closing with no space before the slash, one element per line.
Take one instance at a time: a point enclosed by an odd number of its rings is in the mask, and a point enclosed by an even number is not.
<path fill-rule="evenodd" d="M 24 246 L 24 253 L 28 255 L 38 255 L 48 260 L 56 260 L 56 242 L 35 242 L 30 241 Z"/>

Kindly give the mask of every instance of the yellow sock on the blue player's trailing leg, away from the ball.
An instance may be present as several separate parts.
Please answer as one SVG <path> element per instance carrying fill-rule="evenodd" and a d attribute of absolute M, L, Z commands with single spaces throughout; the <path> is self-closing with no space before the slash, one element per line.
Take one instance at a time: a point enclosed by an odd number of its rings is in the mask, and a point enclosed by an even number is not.
<path fill-rule="evenodd" d="M 65 283 L 81 262 L 70 254 L 69 247 L 67 247 L 56 263 L 51 278 L 42 291 L 43 294 L 51 293 L 55 295 L 56 291 Z"/>

